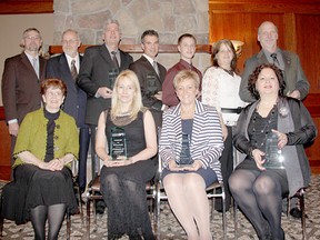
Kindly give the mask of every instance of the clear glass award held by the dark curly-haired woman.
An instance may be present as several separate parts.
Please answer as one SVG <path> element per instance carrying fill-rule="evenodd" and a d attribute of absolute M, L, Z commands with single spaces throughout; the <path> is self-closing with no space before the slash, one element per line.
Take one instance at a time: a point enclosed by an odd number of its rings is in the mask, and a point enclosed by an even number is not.
<path fill-rule="evenodd" d="M 266 169 L 284 169 L 283 156 L 281 149 L 278 148 L 278 134 L 269 132 L 266 139 Z"/>

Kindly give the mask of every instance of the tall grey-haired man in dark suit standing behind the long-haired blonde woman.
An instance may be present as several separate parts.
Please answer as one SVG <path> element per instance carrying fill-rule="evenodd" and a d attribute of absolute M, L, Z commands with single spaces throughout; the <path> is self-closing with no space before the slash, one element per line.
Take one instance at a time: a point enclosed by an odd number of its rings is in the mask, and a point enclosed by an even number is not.
<path fill-rule="evenodd" d="M 121 31 L 117 20 L 109 19 L 106 22 L 102 37 L 103 44 L 86 49 L 77 78 L 78 86 L 88 96 L 86 123 L 91 130 L 92 178 L 100 171 L 94 150 L 99 116 L 111 107 L 114 78 L 133 61 L 130 54 L 118 48 Z"/>

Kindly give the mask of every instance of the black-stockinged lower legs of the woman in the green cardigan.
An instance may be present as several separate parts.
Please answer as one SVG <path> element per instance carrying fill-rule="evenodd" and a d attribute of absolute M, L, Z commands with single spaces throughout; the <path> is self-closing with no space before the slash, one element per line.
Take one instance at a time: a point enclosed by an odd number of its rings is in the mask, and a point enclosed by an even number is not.
<path fill-rule="evenodd" d="M 38 206 L 30 211 L 36 240 L 46 239 L 46 221 L 48 219 L 48 240 L 57 240 L 64 218 L 66 204 Z"/>

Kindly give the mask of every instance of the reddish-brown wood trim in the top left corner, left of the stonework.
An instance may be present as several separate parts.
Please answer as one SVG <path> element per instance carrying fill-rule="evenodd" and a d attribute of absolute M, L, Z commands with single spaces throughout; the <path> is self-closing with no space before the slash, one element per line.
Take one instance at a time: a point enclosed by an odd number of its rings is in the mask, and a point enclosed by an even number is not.
<path fill-rule="evenodd" d="M 53 0 L 1 0 L 0 14 L 52 13 Z"/>

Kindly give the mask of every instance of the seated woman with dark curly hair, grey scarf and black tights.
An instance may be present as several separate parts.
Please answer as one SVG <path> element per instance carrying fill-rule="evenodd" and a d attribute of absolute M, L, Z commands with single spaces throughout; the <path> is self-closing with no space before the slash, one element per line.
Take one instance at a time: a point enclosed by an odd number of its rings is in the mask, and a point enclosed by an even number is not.
<path fill-rule="evenodd" d="M 302 102 L 284 97 L 286 82 L 276 66 L 259 66 L 248 88 L 258 101 L 242 110 L 237 123 L 233 143 L 247 157 L 231 174 L 230 190 L 259 239 L 283 240 L 282 198 L 310 183 L 303 144 L 313 141 L 317 129 Z M 270 142 L 272 138 L 274 158 L 266 167 L 267 139 Z"/>

